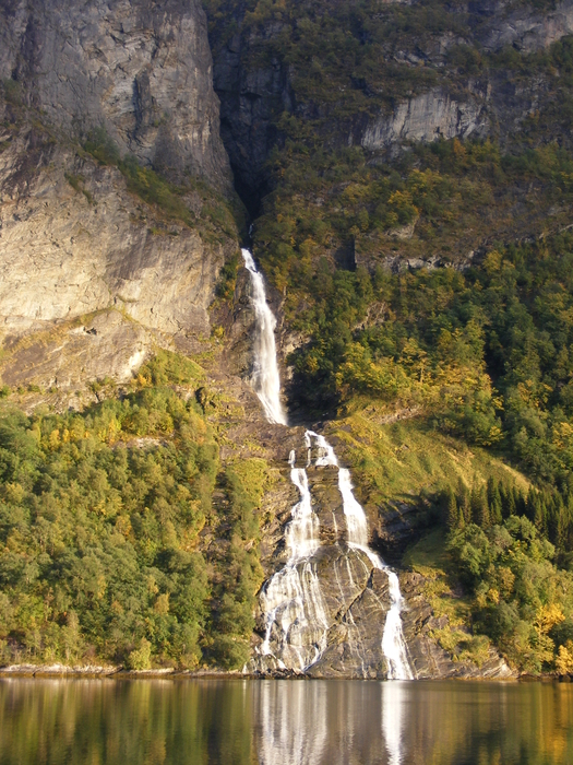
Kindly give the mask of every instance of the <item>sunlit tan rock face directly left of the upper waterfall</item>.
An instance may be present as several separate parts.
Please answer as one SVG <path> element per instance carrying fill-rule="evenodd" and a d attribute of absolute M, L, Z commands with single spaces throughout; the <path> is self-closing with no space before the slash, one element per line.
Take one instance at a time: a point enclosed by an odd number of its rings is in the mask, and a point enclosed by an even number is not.
<path fill-rule="evenodd" d="M 154 345 L 210 334 L 218 270 L 235 249 L 129 192 L 48 131 L 4 136 L 0 154 L 2 380 L 73 388 L 130 378 Z"/>

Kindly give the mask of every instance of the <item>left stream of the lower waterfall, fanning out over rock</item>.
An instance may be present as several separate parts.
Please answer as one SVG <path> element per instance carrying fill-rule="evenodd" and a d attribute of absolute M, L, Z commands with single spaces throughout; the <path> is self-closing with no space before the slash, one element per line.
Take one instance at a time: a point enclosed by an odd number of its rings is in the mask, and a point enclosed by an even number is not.
<path fill-rule="evenodd" d="M 307 471 L 295 467 L 290 455 L 290 480 L 300 492 L 300 502 L 291 510 L 293 520 L 285 532 L 288 562 L 265 584 L 261 608 L 266 617 L 263 656 L 275 656 L 280 668 L 305 670 L 326 647 L 329 621 L 320 579 L 311 561 L 319 548 L 319 519 L 312 511 Z"/>

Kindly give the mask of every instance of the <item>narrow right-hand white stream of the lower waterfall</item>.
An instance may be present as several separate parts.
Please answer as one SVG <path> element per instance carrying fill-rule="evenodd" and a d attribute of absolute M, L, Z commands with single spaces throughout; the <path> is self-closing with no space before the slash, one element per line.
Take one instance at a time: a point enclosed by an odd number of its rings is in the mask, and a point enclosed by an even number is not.
<path fill-rule="evenodd" d="M 334 449 L 326 442 L 324 436 L 308 432 L 309 436 L 317 439 L 320 456 L 315 464 L 338 466 L 338 460 Z M 338 468 L 338 489 L 343 497 L 344 515 L 346 528 L 348 530 L 348 546 L 361 550 L 375 568 L 384 570 L 389 578 L 390 611 L 386 614 L 384 632 L 382 634 L 382 654 L 387 661 L 389 680 L 413 680 L 411 670 L 408 662 L 406 644 L 402 632 L 401 611 L 404 599 L 399 591 L 399 582 L 396 574 L 391 570 L 379 555 L 368 546 L 368 523 L 366 514 L 361 505 L 356 501 L 353 493 L 350 472 L 345 468 Z"/>

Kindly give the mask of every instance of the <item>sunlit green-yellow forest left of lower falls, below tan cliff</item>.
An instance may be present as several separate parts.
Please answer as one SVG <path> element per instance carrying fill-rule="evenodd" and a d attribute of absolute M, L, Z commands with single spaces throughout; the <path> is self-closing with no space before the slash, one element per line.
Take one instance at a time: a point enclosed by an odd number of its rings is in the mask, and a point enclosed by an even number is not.
<path fill-rule="evenodd" d="M 160 352 L 82 413 L 4 407 L 2 662 L 242 667 L 266 468 L 220 464 L 203 378 Z"/>

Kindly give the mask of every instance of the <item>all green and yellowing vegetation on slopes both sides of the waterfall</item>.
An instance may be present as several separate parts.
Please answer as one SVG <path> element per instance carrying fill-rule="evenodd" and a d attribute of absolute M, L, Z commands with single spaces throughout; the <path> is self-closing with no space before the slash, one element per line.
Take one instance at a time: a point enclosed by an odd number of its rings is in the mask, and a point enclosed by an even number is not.
<path fill-rule="evenodd" d="M 371 517 L 407 502 L 418 531 L 439 527 L 406 562 L 449 620 L 442 647 L 479 663 L 491 638 L 522 670 L 572 672 L 572 39 L 486 48 L 487 19 L 441 0 L 206 5 L 215 51 L 238 35 L 231 52 L 268 90 L 253 246 L 285 295 L 291 398 L 336 421 Z M 60 140 L 23 85 L 0 91 L 4 150 L 23 130 Z M 428 93 L 473 120 L 471 138 L 446 125 L 459 136 L 368 146 L 368 129 Z M 157 212 L 152 234 L 176 236 L 177 222 L 236 237 L 237 210 L 203 181 L 172 183 L 103 128 L 83 137 L 74 161 L 116 167 Z M 243 664 L 267 469 L 222 462 L 204 382 L 162 353 L 81 413 L 2 404 L 2 661 Z"/>

